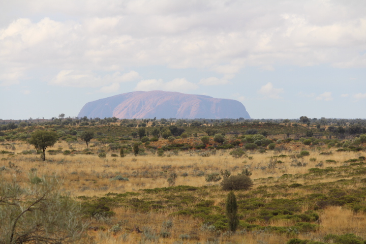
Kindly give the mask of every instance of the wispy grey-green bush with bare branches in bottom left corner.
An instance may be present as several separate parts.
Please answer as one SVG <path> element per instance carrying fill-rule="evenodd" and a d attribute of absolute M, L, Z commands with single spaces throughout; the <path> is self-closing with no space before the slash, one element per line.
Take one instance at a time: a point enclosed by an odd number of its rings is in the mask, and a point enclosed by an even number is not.
<path fill-rule="evenodd" d="M 0 243 L 69 243 L 85 235 L 80 206 L 55 177 L 29 176 L 26 187 L 0 179 Z"/>

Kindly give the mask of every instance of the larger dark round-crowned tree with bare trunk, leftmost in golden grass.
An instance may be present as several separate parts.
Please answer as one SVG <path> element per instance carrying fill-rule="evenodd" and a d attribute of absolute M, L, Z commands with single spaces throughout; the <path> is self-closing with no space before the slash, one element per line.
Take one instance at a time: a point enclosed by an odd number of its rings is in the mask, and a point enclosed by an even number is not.
<path fill-rule="evenodd" d="M 58 140 L 57 133 L 54 131 L 42 131 L 38 130 L 32 133 L 28 142 L 34 145 L 36 149 L 43 151 L 43 161 L 46 159 L 45 151 L 49 146 L 53 146 Z"/>

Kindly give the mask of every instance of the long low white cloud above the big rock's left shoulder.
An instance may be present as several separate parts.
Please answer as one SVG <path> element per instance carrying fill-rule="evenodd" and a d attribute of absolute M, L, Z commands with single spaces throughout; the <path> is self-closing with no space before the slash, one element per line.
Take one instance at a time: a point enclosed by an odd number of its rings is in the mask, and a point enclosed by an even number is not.
<path fill-rule="evenodd" d="M 51 85 L 71 87 L 99 87 L 110 83 L 133 81 L 140 76 L 136 71 L 121 74 L 115 72 L 98 76 L 91 71 L 62 70 L 50 82 Z"/>

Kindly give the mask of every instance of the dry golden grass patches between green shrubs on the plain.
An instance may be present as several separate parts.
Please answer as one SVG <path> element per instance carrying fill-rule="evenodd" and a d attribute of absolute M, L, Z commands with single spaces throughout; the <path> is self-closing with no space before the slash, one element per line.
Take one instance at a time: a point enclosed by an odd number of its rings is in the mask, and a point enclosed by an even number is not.
<path fill-rule="evenodd" d="M 124 158 L 111 157 L 111 153 L 108 152 L 105 159 L 101 159 L 95 155 L 46 155 L 46 161 L 40 160 L 39 155 L 23 155 L 23 150 L 33 149 L 27 143 L 17 142 L 14 150 L 15 155 L 3 155 L 0 161 L 0 167 L 8 167 L 9 161 L 14 163 L 18 168 L 18 172 L 6 170 L 2 172 L 1 176 L 10 178 L 15 174 L 17 180 L 25 182 L 27 180 L 27 172 L 32 169 L 37 169 L 38 175 L 56 174 L 64 179 L 63 188 L 65 192 L 70 193 L 72 196 L 104 196 L 109 192 L 125 193 L 125 192 L 138 192 L 141 189 L 153 189 L 168 187 L 167 178 L 169 173 L 175 171 L 178 175 L 175 185 L 188 185 L 188 186 L 211 186 L 213 183 L 205 181 L 204 176 L 197 176 L 197 172 L 202 171 L 205 175 L 212 172 L 220 172 L 221 170 L 228 169 L 232 174 L 240 173 L 242 169 L 248 168 L 253 174 L 252 179 L 255 179 L 255 186 L 276 185 L 279 181 L 283 184 L 292 184 L 294 182 L 307 185 L 317 184 L 321 182 L 331 182 L 334 178 L 316 178 L 315 176 L 309 176 L 309 178 L 299 177 L 296 181 L 289 181 L 287 179 L 280 179 L 283 174 L 305 174 L 309 172 L 310 168 L 325 168 L 327 166 L 342 166 L 344 161 L 352 158 L 358 158 L 359 156 L 365 156 L 363 152 L 337 152 L 332 155 L 321 155 L 323 151 L 329 151 L 330 149 L 322 148 L 316 149 L 315 147 L 304 146 L 302 144 L 292 145 L 291 149 L 283 151 L 267 151 L 265 154 L 251 153 L 249 152 L 247 157 L 233 158 L 230 156 L 230 150 L 218 150 L 215 156 L 202 157 L 196 151 L 180 151 L 177 155 L 167 152 L 165 157 L 157 157 L 156 155 L 148 153 L 146 156 L 134 157 L 127 155 Z M 66 142 L 56 143 L 54 147 L 48 149 L 57 149 L 59 147 L 63 150 L 69 149 L 70 145 Z M 73 143 L 72 148 L 76 150 L 85 149 L 85 145 L 82 143 Z M 98 148 L 91 148 L 96 151 Z M 300 159 L 291 158 L 290 156 L 298 155 L 299 151 L 306 149 L 310 151 L 310 156 Z M 0 150 L 11 150 L 6 145 L 0 145 Z M 268 163 L 271 157 L 279 156 L 280 154 L 288 155 L 286 158 L 278 158 L 283 163 L 277 164 L 275 169 L 269 169 Z M 252 157 L 251 159 L 249 157 Z M 310 158 L 316 158 L 316 161 L 310 161 Z M 295 167 L 294 160 L 302 163 L 307 163 L 304 167 Z M 326 160 L 335 160 L 336 163 L 326 163 Z M 320 162 L 323 162 L 323 166 L 319 166 Z M 318 165 L 318 166 L 317 166 Z M 137 172 L 137 173 L 136 173 Z M 187 173 L 187 176 L 181 176 Z M 121 175 L 129 178 L 129 181 L 111 181 L 110 178 Z M 134 176 L 135 175 L 135 176 Z M 270 179 L 268 177 L 273 177 Z M 342 174 L 337 175 L 337 178 L 341 178 Z M 277 182 L 275 182 L 277 180 Z M 349 189 L 358 188 L 359 185 L 348 186 Z M 311 193 L 306 189 L 288 189 L 288 193 L 296 193 L 298 197 L 305 196 Z M 271 193 L 270 191 L 268 193 Z M 211 197 L 207 199 L 214 199 L 215 204 L 223 201 L 225 198 L 225 192 L 211 193 Z M 142 194 L 143 195 L 143 194 Z M 158 198 L 159 195 L 155 196 Z M 273 198 L 283 198 L 282 196 L 276 196 Z M 204 199 L 204 198 L 203 198 Z M 270 201 L 272 198 L 268 198 Z M 197 235 L 196 240 L 191 240 L 191 243 L 201 242 L 209 240 L 215 236 L 210 232 L 199 231 L 202 221 L 199 219 L 193 219 L 190 217 L 169 217 L 171 212 L 176 209 L 164 209 L 161 212 L 148 212 L 147 214 L 140 214 L 134 212 L 131 209 L 124 207 L 116 207 L 112 209 L 116 215 L 112 220 L 106 221 L 92 221 L 93 226 L 110 226 L 118 220 L 126 220 L 126 230 L 130 230 L 127 235 L 117 234 L 113 235 L 108 231 L 89 231 L 94 240 L 98 243 L 137 243 L 141 238 L 141 234 L 133 231 L 136 226 L 146 226 L 159 232 L 163 221 L 171 219 L 174 223 L 174 229 L 171 233 L 171 238 L 160 238 L 159 243 L 173 243 L 179 239 L 179 235 L 189 233 L 191 236 Z M 301 206 L 301 211 L 309 210 L 308 205 Z M 299 234 L 297 238 L 312 238 L 314 240 L 320 239 L 322 236 L 328 233 L 344 234 L 354 233 L 356 235 L 366 238 L 366 225 L 364 225 L 366 216 L 364 214 L 354 214 L 353 211 L 342 207 L 328 207 L 321 211 L 319 224 L 321 228 L 319 231 L 303 235 Z M 109 222 L 108 222 L 109 221 Z M 261 225 L 271 226 L 293 226 L 293 220 L 277 220 L 270 221 L 269 223 L 258 223 Z M 220 236 L 223 241 L 230 241 L 231 243 L 285 243 L 289 237 L 285 235 L 276 235 L 270 233 L 255 233 L 248 232 L 245 234 L 236 233 L 233 236 Z M 225 243 L 225 242 L 222 242 Z"/>

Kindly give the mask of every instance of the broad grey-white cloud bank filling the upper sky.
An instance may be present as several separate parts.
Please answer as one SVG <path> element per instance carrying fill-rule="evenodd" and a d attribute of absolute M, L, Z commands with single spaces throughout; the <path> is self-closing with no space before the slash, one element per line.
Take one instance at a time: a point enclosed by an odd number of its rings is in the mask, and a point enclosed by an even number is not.
<path fill-rule="evenodd" d="M 161 65 L 219 74 L 248 66 L 366 67 L 364 1 L 280 0 L 267 8 L 256 1 L 13 2 L 2 6 L 20 14 L 0 20 L 0 65 L 102 71 Z"/>

